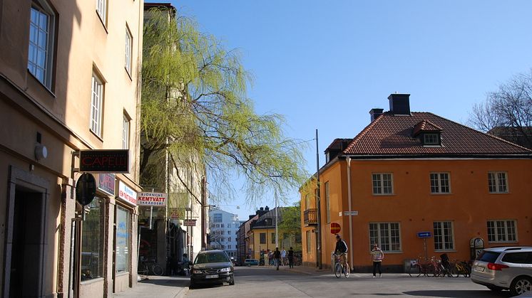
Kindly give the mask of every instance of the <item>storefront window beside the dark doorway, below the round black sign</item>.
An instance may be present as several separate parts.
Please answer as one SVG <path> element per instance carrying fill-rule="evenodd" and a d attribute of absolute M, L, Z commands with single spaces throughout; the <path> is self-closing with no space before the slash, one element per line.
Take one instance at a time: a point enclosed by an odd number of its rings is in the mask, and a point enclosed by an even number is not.
<path fill-rule="evenodd" d="M 88 205 L 81 232 L 81 281 L 103 275 L 103 199 L 94 198 Z"/>

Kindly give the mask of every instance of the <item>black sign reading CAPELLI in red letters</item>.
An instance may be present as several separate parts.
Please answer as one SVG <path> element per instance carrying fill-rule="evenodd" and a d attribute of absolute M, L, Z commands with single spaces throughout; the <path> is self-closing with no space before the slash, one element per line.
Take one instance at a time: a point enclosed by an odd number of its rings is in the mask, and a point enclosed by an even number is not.
<path fill-rule="evenodd" d="M 93 173 L 129 173 L 129 150 L 81 150 L 79 171 Z"/>

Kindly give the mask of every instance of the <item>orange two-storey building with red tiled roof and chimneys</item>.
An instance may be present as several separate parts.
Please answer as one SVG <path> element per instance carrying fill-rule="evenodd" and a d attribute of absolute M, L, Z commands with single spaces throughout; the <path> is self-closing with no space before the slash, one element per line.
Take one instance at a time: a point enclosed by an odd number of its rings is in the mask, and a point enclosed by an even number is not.
<path fill-rule="evenodd" d="M 305 265 L 331 265 L 334 233 L 346 240 L 355 272 L 369 271 L 377 243 L 385 270 L 446 253 L 470 260 L 481 248 L 529 245 L 532 151 L 430 112 L 411 112 L 409 95 L 370 111 L 354 139 L 336 139 L 301 188 Z M 322 251 L 319 258 L 317 229 Z"/>

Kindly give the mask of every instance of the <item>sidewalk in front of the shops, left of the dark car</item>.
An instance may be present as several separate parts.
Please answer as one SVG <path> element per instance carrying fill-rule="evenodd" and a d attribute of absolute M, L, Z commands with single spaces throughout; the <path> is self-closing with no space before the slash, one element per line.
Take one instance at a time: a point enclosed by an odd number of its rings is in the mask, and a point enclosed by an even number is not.
<path fill-rule="evenodd" d="M 150 275 L 147 279 L 138 282 L 133 289 L 113 294 L 113 297 L 144 298 L 154 297 L 155 293 L 160 298 L 180 298 L 188 293 L 190 277 L 155 276 Z"/>

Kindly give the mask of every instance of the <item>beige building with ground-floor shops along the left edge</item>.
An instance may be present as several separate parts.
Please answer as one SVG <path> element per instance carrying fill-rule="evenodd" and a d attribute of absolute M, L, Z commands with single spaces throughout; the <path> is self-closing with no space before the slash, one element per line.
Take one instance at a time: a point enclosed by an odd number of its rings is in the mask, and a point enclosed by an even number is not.
<path fill-rule="evenodd" d="M 143 1 L 0 1 L 0 292 L 111 297 L 137 282 Z M 128 173 L 78 157 L 129 149 Z"/>

